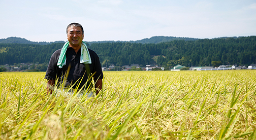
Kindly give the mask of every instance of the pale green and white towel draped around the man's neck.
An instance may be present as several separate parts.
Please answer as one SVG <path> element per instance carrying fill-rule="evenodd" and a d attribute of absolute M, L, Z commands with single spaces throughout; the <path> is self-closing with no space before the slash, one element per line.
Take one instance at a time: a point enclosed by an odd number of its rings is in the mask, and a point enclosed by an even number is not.
<path fill-rule="evenodd" d="M 66 42 L 61 49 L 58 63 L 57 63 L 57 66 L 59 68 L 62 68 L 63 65 L 66 65 L 66 51 L 68 47 L 69 47 L 69 42 Z M 82 42 L 82 45 L 81 45 L 80 63 L 91 64 L 90 54 L 84 42 Z"/>

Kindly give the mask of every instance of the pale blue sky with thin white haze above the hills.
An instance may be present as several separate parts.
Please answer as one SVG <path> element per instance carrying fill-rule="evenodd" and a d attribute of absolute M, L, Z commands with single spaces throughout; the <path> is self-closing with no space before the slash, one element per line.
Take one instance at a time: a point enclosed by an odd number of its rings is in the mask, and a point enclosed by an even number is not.
<path fill-rule="evenodd" d="M 0 6 L 0 39 L 67 41 L 71 22 L 82 24 L 84 41 L 256 36 L 255 0 L 0 0 Z"/>

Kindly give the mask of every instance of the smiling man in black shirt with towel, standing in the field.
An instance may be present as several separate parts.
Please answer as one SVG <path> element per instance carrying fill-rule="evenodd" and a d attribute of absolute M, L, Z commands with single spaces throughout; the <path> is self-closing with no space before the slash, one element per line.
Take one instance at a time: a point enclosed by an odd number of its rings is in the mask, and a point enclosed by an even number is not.
<path fill-rule="evenodd" d="M 52 93 L 55 81 L 58 87 L 73 89 L 91 88 L 94 80 L 96 94 L 102 89 L 103 73 L 98 55 L 88 49 L 83 42 L 84 31 L 79 23 L 71 23 L 67 27 L 68 42 L 55 51 L 50 59 L 45 79 L 48 93 Z M 87 90 L 88 91 L 88 90 Z"/>

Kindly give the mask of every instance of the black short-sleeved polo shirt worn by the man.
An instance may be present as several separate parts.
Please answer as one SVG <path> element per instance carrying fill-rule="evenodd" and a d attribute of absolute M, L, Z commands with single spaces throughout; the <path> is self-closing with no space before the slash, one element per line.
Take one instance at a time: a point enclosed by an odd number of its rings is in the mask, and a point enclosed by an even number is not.
<path fill-rule="evenodd" d="M 83 85 L 86 84 L 86 81 L 88 79 L 86 74 L 86 67 L 89 67 L 90 73 L 94 74 L 94 81 L 97 79 L 103 79 L 102 67 L 99 56 L 91 49 L 88 48 L 91 58 L 91 64 L 84 64 L 80 63 L 81 49 L 76 53 L 72 47 L 68 47 L 66 51 L 66 65 L 63 65 L 62 68 L 59 68 L 57 66 L 60 51 L 61 49 L 55 51 L 52 54 L 46 71 L 45 79 L 58 81 L 58 86 L 62 85 L 62 83 L 65 81 L 65 87 L 70 87 L 71 85 L 73 85 L 73 88 L 78 87 L 79 89 L 81 89 Z M 69 65 L 70 72 L 68 74 L 67 80 L 65 80 Z M 86 85 L 86 87 L 88 87 L 88 84 Z"/>

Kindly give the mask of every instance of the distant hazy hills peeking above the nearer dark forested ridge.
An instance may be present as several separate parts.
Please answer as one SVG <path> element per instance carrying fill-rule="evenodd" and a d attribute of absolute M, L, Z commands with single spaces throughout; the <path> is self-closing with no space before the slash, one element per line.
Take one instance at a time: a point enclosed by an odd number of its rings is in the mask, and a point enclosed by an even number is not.
<path fill-rule="evenodd" d="M 93 41 L 87 42 L 89 45 L 93 43 L 115 43 L 115 42 L 131 42 L 131 43 L 162 43 L 162 42 L 170 42 L 174 40 L 185 40 L 185 41 L 195 41 L 198 39 L 194 38 L 177 38 L 177 37 L 164 37 L 164 36 L 155 36 L 151 37 L 150 39 L 142 39 L 137 41 Z M 86 42 L 86 41 L 85 41 Z M 0 39 L 0 43 L 19 43 L 19 44 L 38 44 L 38 45 L 47 45 L 52 43 L 65 43 L 64 41 L 55 41 L 55 42 L 31 42 L 26 39 L 17 38 L 17 37 L 10 37 L 7 39 Z"/>

